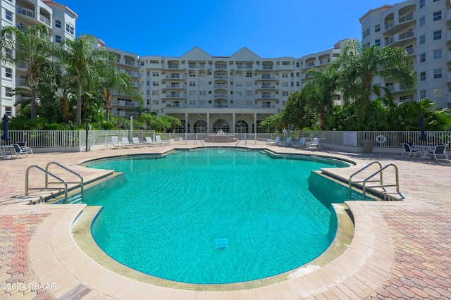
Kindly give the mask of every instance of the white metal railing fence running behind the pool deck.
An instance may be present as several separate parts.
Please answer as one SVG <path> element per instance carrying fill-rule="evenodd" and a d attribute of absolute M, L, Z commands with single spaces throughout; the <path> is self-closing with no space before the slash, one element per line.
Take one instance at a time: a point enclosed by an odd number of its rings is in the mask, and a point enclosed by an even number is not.
<path fill-rule="evenodd" d="M 3 132 L 1 132 L 3 134 Z M 96 146 L 107 146 L 111 143 L 111 136 L 117 137 L 144 137 L 155 136 L 154 130 L 10 130 L 10 144 L 15 142 L 27 142 L 32 148 L 42 148 L 45 151 L 52 151 L 58 148 L 73 148 L 73 151 L 85 151 Z M 186 144 L 194 143 L 197 139 L 208 140 L 208 137 L 218 136 L 217 133 L 160 133 L 162 139 L 176 139 L 185 141 Z M 364 140 L 373 141 L 373 147 L 377 147 L 380 151 L 390 151 L 390 149 L 402 149 L 402 143 L 412 142 L 413 144 L 450 144 L 450 131 L 426 131 L 426 141 L 420 140 L 419 131 L 358 131 L 358 132 L 342 132 L 342 131 L 288 131 L 283 133 L 225 133 L 230 137 L 230 141 L 245 140 L 247 144 L 255 142 L 266 142 L 268 139 L 274 139 L 279 136 L 281 139 L 292 137 L 292 141 L 296 142 L 301 137 L 313 139 L 318 137 L 320 143 L 324 146 L 345 146 L 350 151 L 356 148 L 355 152 L 362 149 Z M 383 136 L 384 138 L 377 138 Z M 233 139 L 232 139 L 233 138 Z M 379 143 L 378 141 L 384 141 Z M 2 141 L 4 142 L 4 141 Z M 214 142 L 214 139 L 213 139 Z M 242 143 L 240 143 L 242 145 Z M 382 149 L 382 150 L 381 150 Z M 385 151 L 383 151 L 385 149 Z M 450 149 L 450 147 L 448 147 Z"/>

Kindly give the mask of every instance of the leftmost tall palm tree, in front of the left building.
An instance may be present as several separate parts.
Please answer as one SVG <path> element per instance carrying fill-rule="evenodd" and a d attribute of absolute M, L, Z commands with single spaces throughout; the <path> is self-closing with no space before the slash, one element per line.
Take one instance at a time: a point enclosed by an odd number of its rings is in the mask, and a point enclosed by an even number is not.
<path fill-rule="evenodd" d="M 26 26 L 21 29 L 6 26 L 0 32 L 0 59 L 11 65 L 25 64 L 26 85 L 31 94 L 31 118 L 37 116 L 37 86 L 44 65 L 51 63 L 56 44 L 51 42 L 46 25 Z"/>

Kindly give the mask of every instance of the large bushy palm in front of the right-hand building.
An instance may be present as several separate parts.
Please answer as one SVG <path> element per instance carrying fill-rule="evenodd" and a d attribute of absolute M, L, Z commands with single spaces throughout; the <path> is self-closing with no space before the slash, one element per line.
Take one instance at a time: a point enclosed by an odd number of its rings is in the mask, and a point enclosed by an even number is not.
<path fill-rule="evenodd" d="M 362 46 L 358 41 L 351 40 L 335 64 L 340 73 L 339 87 L 345 101 L 354 103 L 359 122 L 364 121 L 371 94 L 380 95 L 381 89 L 384 89 L 374 84 L 375 77 L 400 82 L 406 89 L 413 88 L 416 83 L 412 58 L 400 47 Z"/>

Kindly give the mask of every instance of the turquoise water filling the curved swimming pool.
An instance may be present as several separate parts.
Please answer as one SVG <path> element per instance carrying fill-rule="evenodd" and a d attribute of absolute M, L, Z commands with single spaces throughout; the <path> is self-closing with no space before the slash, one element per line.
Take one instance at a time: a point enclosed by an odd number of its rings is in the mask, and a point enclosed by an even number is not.
<path fill-rule="evenodd" d="M 225 149 L 116 158 L 88 165 L 124 175 L 86 191 L 83 201 L 104 206 L 92 235 L 116 261 L 178 282 L 243 282 L 326 250 L 336 224 L 330 228 L 330 199 L 314 197 L 309 177 L 345 166 Z"/>

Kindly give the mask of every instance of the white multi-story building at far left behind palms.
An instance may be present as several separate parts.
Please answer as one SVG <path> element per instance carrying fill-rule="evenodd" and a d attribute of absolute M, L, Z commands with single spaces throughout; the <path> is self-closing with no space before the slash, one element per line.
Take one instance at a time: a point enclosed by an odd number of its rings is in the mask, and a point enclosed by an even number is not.
<path fill-rule="evenodd" d="M 48 27 L 53 42 L 75 38 L 75 20 L 78 15 L 67 6 L 46 0 L 3 0 L 1 1 L 0 28 L 44 24 Z M 13 89 L 24 87 L 25 68 L 0 62 L 1 67 L 1 115 L 16 115 L 15 104 L 23 101 L 22 96 L 13 95 Z"/>

